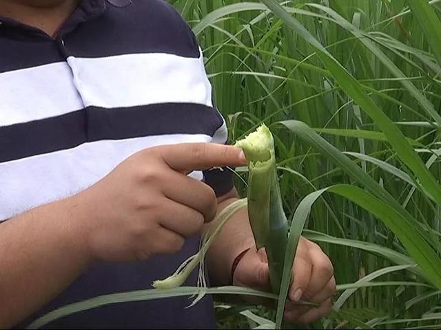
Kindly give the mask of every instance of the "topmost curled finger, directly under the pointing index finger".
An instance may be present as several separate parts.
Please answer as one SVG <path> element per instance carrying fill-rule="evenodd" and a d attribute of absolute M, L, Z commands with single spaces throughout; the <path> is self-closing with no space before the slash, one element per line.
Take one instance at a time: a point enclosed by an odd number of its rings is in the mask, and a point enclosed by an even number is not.
<path fill-rule="evenodd" d="M 218 208 L 216 194 L 202 181 L 169 170 L 167 179 L 162 185 L 166 197 L 201 212 L 205 222 L 212 221 L 216 215 Z"/>

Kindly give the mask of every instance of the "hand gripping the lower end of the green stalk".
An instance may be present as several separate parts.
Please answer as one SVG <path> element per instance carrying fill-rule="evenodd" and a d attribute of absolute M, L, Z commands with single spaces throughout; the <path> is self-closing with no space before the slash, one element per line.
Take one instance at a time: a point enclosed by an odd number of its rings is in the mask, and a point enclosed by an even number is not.
<path fill-rule="evenodd" d="M 301 238 L 294 265 L 294 283 L 289 288 L 289 300 L 285 307 L 285 319 L 293 323 L 307 324 L 327 316 L 331 312 L 331 297 L 336 291 L 334 267 L 322 249 Z M 250 249 L 240 259 L 234 271 L 233 284 L 269 291 L 269 269 L 265 250 Z M 320 307 L 296 305 L 299 300 L 316 303 Z"/>

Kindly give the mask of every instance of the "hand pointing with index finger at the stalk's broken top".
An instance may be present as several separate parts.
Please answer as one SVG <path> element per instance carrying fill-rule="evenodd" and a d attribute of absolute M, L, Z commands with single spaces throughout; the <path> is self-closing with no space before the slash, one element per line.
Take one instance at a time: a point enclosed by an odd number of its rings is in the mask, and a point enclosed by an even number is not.
<path fill-rule="evenodd" d="M 217 212 L 216 195 L 192 170 L 242 166 L 234 146 L 196 143 L 147 148 L 72 197 L 92 260 L 139 261 L 172 254 Z"/>

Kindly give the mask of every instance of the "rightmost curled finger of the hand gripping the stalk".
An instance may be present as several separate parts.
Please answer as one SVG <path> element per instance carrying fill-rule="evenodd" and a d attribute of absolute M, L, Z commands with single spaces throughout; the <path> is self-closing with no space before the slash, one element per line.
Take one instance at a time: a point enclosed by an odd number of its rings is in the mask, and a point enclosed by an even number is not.
<path fill-rule="evenodd" d="M 311 243 L 309 256 L 312 262 L 312 272 L 307 291 L 304 292 L 307 298 L 316 296 L 334 276 L 331 261 L 318 245 Z"/>

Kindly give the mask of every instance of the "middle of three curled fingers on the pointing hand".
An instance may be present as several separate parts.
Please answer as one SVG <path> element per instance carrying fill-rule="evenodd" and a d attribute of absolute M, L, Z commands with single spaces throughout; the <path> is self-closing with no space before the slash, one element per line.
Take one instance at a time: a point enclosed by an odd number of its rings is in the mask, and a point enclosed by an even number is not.
<path fill-rule="evenodd" d="M 163 228 L 184 237 L 192 236 L 201 231 L 204 224 L 204 216 L 201 212 L 176 203 L 171 199 L 167 199 L 164 204 L 167 210 L 158 214 L 158 223 Z"/>

